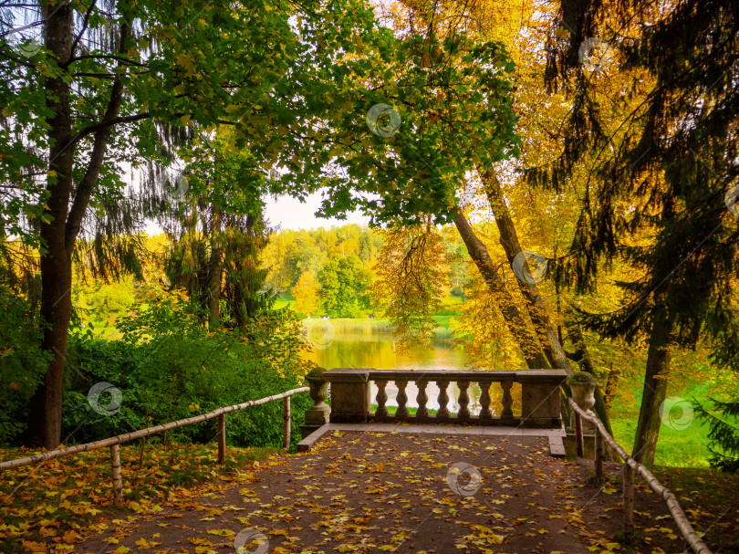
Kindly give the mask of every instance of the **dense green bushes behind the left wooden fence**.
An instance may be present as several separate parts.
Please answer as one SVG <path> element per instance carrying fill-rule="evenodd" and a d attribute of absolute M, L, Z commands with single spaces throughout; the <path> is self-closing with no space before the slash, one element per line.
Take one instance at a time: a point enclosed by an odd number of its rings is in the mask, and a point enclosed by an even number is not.
<path fill-rule="evenodd" d="M 83 443 L 303 386 L 310 364 L 300 357 L 305 346 L 292 312 L 273 312 L 253 322 L 249 340 L 227 330 L 209 332 L 199 320 L 182 299 L 155 298 L 119 320 L 121 340 L 76 334 L 68 360 L 77 371 L 68 372 L 62 434 L 74 431 L 74 440 Z M 105 413 L 113 400 L 106 394 L 99 399 L 101 409 L 93 409 L 88 391 L 97 382 L 109 382 L 122 393 L 117 413 Z M 307 394 L 292 398 L 294 444 L 297 423 L 309 405 Z M 282 402 L 229 414 L 226 422 L 230 444 L 282 444 Z M 209 443 L 215 439 L 215 420 L 161 437 Z"/>

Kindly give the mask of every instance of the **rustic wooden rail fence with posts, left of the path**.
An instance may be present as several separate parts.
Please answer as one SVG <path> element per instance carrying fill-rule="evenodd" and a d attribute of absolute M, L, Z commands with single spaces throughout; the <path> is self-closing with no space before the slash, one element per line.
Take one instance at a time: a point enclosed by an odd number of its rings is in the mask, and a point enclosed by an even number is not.
<path fill-rule="evenodd" d="M 149 436 L 150 434 L 161 433 L 162 431 L 168 431 L 170 429 L 176 429 L 177 427 L 184 427 L 186 425 L 192 425 L 193 423 L 204 422 L 214 417 L 218 418 L 217 427 L 217 440 L 218 440 L 218 463 L 225 464 L 225 414 L 229 412 L 238 412 L 251 406 L 258 406 L 265 404 L 266 402 L 273 402 L 282 399 L 283 401 L 283 421 L 285 423 L 283 433 L 283 446 L 287 450 L 290 447 L 290 397 L 300 392 L 309 392 L 309 387 L 300 387 L 299 389 L 292 389 L 290 391 L 281 392 L 280 394 L 274 394 L 272 396 L 266 396 L 259 400 L 250 400 L 249 402 L 243 402 L 241 404 L 234 404 L 233 406 L 225 406 L 224 408 L 218 408 L 213 412 L 203 413 L 187 419 L 181 419 L 176 422 L 162 423 L 155 427 L 148 427 L 146 429 L 140 429 L 139 431 L 133 431 L 131 433 L 119 434 L 112 436 L 101 441 L 94 443 L 78 444 L 77 446 L 69 446 L 68 448 L 59 448 L 57 450 L 50 450 L 42 454 L 27 456 L 25 458 L 17 458 L 16 460 L 8 460 L 7 462 L 0 463 L 0 472 L 7 469 L 13 469 L 14 467 L 23 467 L 24 465 L 40 464 L 47 460 L 52 460 L 61 456 L 75 455 L 80 452 L 91 452 L 93 450 L 99 450 L 109 446 L 110 448 L 110 465 L 112 469 L 113 479 L 113 504 L 118 506 L 123 503 L 123 479 L 120 472 L 120 444 L 128 443 L 136 439 Z"/>

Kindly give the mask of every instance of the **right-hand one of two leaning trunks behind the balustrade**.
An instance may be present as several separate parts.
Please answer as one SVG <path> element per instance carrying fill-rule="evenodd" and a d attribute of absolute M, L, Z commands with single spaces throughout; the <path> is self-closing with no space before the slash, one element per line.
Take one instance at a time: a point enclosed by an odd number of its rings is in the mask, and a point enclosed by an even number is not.
<path fill-rule="evenodd" d="M 483 179 L 488 202 L 493 209 L 495 224 L 500 233 L 500 244 L 505 250 L 505 256 L 508 257 L 508 263 L 513 264 L 515 256 L 522 251 L 522 248 L 518 242 L 518 235 L 515 232 L 515 225 L 508 211 L 508 206 L 505 205 L 500 181 L 498 181 L 493 169 L 480 171 L 479 173 Z M 552 364 L 552 367 L 567 371 L 567 375 L 574 374 L 572 366 L 570 366 L 567 360 L 567 354 L 557 337 L 557 329 L 550 323 L 546 315 L 544 301 L 541 298 L 538 287 L 536 287 L 536 283 L 524 282 L 520 279 L 515 280 L 518 283 L 521 294 L 526 298 L 528 313 L 532 323 L 534 323 L 539 340 L 541 340 L 546 358 Z"/>

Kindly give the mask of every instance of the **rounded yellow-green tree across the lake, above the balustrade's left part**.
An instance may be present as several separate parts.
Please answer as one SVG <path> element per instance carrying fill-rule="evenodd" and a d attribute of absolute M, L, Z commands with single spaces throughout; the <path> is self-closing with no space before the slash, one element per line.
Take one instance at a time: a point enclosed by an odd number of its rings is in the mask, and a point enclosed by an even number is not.
<path fill-rule="evenodd" d="M 369 281 L 358 256 L 331 256 L 318 274 L 321 307 L 331 318 L 358 318 L 369 307 Z"/>

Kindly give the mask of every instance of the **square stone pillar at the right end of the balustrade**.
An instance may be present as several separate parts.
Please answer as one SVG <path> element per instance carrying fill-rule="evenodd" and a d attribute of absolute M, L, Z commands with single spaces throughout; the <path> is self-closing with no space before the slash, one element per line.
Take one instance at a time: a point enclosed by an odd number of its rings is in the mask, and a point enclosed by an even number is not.
<path fill-rule="evenodd" d="M 521 383 L 521 426 L 562 427 L 559 387 L 567 380 L 564 370 L 516 371 Z"/>

